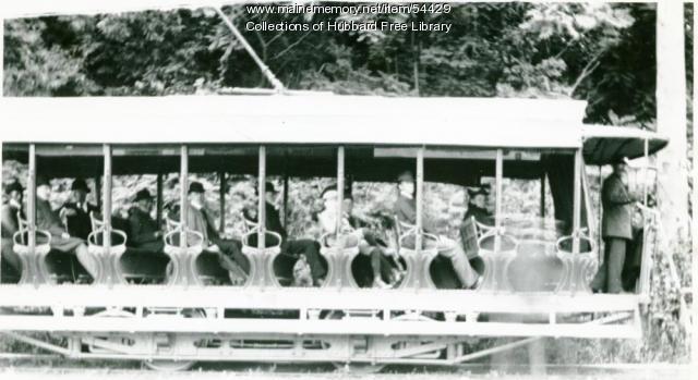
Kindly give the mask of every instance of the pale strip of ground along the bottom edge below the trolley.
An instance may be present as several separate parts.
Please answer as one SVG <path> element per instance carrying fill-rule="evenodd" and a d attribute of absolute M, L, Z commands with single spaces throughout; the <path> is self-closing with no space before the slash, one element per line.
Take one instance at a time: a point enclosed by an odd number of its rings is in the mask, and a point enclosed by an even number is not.
<path fill-rule="evenodd" d="M 457 368 L 387 367 L 381 373 L 361 375 L 335 370 L 324 365 L 256 365 L 256 364 L 204 364 L 184 372 L 156 372 L 142 370 L 137 365 L 116 365 L 109 369 L 94 367 L 96 364 L 73 363 L 58 367 L 35 367 L 27 363 L 0 361 L 2 379 L 537 379 L 541 371 L 551 379 L 693 379 L 688 366 L 633 366 L 633 367 L 570 367 L 550 366 L 538 368 L 537 373 L 529 367 L 514 367 L 507 371 L 491 370 L 483 366 L 464 366 Z M 85 368 L 86 367 L 86 368 Z"/>

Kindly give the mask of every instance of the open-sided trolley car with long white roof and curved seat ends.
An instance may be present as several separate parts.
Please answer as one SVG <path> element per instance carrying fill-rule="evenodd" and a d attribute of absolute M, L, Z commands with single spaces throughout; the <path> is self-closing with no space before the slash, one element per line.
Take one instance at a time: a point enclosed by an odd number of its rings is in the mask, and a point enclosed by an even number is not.
<path fill-rule="evenodd" d="M 648 302 L 653 214 L 646 209 L 642 268 L 631 294 L 592 294 L 601 247 L 586 166 L 603 166 L 663 148 L 657 134 L 585 125 L 586 103 L 571 100 L 383 98 L 350 96 L 181 96 L 163 98 L 3 98 L 2 159 L 26 163 L 26 228 L 14 249 L 25 263 L 16 284 L 0 286 L 0 332 L 70 358 L 137 359 L 160 369 L 194 361 L 455 365 L 488 354 L 473 339 L 623 338 L 641 334 Z M 360 289 L 354 247 L 327 240 L 321 286 L 280 279 L 277 246 L 265 231 L 264 197 L 243 253 L 246 282 L 232 285 L 186 225 L 185 211 L 165 238 L 174 263 L 147 284 L 137 260 L 125 266 L 128 232 L 112 220 L 112 175 L 179 173 L 180 203 L 190 174 L 335 177 L 341 211 L 347 179 L 394 182 L 416 174 L 417 224 L 401 229 L 406 275 L 396 289 Z M 35 221 L 37 173 L 96 177 L 101 216 L 88 240 L 100 271 L 91 283 L 57 283 L 46 232 Z M 462 186 L 494 180 L 494 223 L 476 225 L 484 262 L 478 289 L 444 289 L 435 253 L 420 244 L 425 182 Z M 503 212 L 505 179 L 540 181 L 537 214 Z M 550 186 L 553 214 L 545 205 Z M 226 197 L 221 185 L 220 201 Z M 549 199 L 550 200 L 550 199 Z M 184 210 L 185 208 L 182 208 Z M 225 210 L 221 204 L 221 210 Z M 338 212 L 341 214 L 341 212 Z M 220 224 L 225 225 L 225 212 Z M 336 233 L 341 234 L 337 226 Z M 412 235 L 412 248 L 399 243 Z M 334 242 L 334 243 L 332 243 Z M 213 262 L 213 263 L 212 263 Z M 539 268 L 543 266 L 545 270 Z M 151 273 L 152 274 L 152 273 Z M 533 281 L 521 282 L 521 277 Z M 64 344 L 40 341 L 48 331 Z M 530 340 L 520 341 L 524 344 Z M 518 343 L 509 343 L 507 347 Z M 506 347 L 503 347 L 506 348 Z M 496 351 L 496 350 L 495 350 Z M 491 351 L 490 351 L 491 352 Z"/>

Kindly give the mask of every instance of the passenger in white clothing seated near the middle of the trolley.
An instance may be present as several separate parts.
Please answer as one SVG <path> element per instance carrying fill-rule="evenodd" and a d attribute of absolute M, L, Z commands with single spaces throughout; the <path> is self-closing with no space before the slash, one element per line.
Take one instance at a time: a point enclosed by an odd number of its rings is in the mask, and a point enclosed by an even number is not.
<path fill-rule="evenodd" d="M 317 214 L 317 220 L 325 233 L 333 233 L 337 223 L 337 189 L 336 186 L 326 187 L 322 193 L 325 208 Z M 394 286 L 400 279 L 400 272 L 386 257 L 387 244 L 380 237 L 377 231 L 369 228 L 364 218 L 353 211 L 353 198 L 345 192 L 342 203 L 342 232 L 351 232 L 357 236 L 359 252 L 363 257 L 370 257 L 371 273 L 369 281 L 359 275 L 359 285 L 387 289 Z M 362 257 L 358 258 L 359 260 Z M 362 273 L 363 274 L 363 273 Z"/>

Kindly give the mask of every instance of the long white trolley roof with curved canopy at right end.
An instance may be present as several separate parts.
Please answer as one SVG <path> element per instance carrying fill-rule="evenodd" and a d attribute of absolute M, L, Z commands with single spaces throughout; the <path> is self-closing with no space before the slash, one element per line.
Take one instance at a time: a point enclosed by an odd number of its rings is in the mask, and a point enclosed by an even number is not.
<path fill-rule="evenodd" d="M 666 145 L 583 125 L 586 102 L 370 96 L 1 98 L 3 139 L 24 143 L 330 144 L 574 149 L 606 163 Z"/>

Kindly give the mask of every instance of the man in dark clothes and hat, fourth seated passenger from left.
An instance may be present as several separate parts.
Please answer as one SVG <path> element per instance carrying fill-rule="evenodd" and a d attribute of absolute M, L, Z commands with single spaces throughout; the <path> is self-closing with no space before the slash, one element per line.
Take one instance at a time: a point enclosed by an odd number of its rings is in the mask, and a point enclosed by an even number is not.
<path fill-rule="evenodd" d="M 157 222 L 151 217 L 153 209 L 153 196 L 147 188 L 142 188 L 135 194 L 134 206 L 129 209 L 129 243 L 134 248 L 141 248 L 151 253 L 161 253 L 165 243 L 163 232 Z"/>

